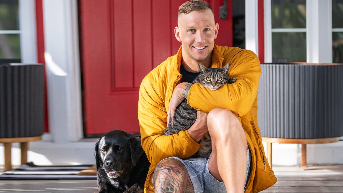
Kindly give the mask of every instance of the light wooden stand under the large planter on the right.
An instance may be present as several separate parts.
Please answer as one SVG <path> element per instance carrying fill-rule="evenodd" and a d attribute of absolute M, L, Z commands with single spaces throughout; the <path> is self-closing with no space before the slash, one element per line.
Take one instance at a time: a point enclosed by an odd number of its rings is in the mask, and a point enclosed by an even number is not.
<path fill-rule="evenodd" d="M 318 139 L 284 139 L 262 137 L 262 141 L 267 142 L 267 160 L 269 166 L 272 167 L 272 144 L 301 144 L 301 167 L 307 167 L 306 163 L 306 144 L 327 144 L 338 142 L 338 137 L 318 138 Z"/>

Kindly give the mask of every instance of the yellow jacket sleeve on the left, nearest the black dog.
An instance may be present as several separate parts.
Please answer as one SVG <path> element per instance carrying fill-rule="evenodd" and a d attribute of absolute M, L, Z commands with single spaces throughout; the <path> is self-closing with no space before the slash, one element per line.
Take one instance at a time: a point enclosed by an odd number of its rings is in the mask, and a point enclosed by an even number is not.
<path fill-rule="evenodd" d="M 190 157 L 200 148 L 200 144 L 191 138 L 187 130 L 163 135 L 167 127 L 167 112 L 163 97 L 155 90 L 162 87 L 162 82 L 153 81 L 152 78 L 147 76 L 141 83 L 138 120 L 142 147 L 150 163 L 156 166 L 159 161 L 171 156 L 181 159 Z"/>

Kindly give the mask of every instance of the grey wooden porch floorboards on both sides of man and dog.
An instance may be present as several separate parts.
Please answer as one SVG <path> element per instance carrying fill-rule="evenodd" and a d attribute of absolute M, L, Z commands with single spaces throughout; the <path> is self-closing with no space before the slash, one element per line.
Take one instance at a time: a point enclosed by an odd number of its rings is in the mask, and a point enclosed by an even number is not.
<path fill-rule="evenodd" d="M 281 167 L 273 166 L 276 184 L 262 192 L 343 193 L 343 165 Z M 1 180 L 0 192 L 13 193 L 92 193 L 96 180 Z"/>

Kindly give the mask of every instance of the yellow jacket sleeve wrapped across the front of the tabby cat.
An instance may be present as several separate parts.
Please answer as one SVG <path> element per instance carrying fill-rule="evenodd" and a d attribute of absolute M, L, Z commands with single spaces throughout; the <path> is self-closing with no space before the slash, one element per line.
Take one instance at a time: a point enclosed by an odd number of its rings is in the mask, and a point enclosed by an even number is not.
<path fill-rule="evenodd" d="M 236 82 L 215 91 L 202 87 L 200 83 L 193 84 L 187 98 L 190 106 L 205 113 L 216 107 L 229 109 L 239 117 L 250 111 L 257 96 L 260 61 L 250 50 L 241 50 L 228 61 L 229 77 L 235 78 Z"/>

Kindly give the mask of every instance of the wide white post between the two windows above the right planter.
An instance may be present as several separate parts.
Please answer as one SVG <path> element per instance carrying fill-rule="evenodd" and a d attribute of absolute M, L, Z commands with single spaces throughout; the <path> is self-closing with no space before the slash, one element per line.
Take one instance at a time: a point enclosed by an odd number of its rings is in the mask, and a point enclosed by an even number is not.
<path fill-rule="evenodd" d="M 332 63 L 332 1 L 306 1 L 308 63 Z"/>

